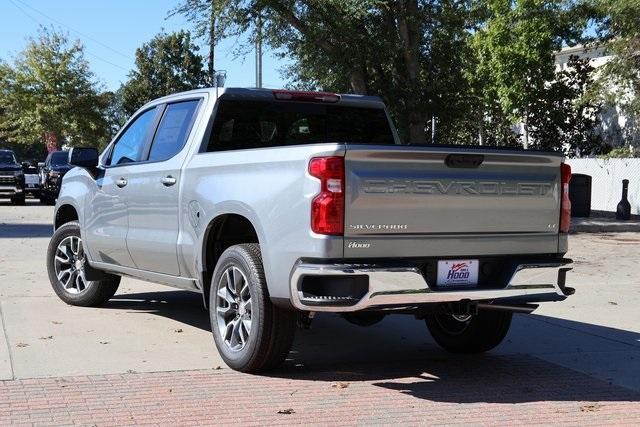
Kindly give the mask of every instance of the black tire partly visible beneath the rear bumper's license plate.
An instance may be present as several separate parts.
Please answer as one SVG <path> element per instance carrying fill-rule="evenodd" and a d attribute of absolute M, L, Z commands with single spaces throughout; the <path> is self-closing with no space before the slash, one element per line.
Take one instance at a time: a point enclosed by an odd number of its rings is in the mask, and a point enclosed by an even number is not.
<path fill-rule="evenodd" d="M 502 342 L 511 326 L 508 311 L 480 310 L 468 320 L 451 314 L 429 314 L 425 318 L 433 339 L 452 353 L 483 353 Z"/>

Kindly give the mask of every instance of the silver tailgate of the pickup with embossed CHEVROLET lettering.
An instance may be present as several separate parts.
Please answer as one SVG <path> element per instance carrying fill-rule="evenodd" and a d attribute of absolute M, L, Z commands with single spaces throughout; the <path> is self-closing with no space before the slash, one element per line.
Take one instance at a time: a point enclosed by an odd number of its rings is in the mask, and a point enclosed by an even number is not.
<path fill-rule="evenodd" d="M 561 161 L 532 151 L 349 145 L 345 256 L 556 252 Z"/>

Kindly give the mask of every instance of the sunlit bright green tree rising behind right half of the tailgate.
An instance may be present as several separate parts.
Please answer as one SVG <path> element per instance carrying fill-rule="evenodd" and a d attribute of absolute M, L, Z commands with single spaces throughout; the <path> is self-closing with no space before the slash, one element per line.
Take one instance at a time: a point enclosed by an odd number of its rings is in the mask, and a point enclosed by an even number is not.
<path fill-rule="evenodd" d="M 468 78 L 484 110 L 482 122 L 493 123 L 487 130 L 524 120 L 528 145 L 539 96 L 555 78 L 553 53 L 580 40 L 586 28 L 580 6 L 573 0 L 482 2 L 485 19 L 472 40 L 477 66 Z"/>

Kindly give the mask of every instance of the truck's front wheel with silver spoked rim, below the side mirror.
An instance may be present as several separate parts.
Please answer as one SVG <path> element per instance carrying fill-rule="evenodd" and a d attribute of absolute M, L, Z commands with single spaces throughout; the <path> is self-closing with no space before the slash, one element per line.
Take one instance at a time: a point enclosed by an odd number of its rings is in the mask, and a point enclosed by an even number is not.
<path fill-rule="evenodd" d="M 58 297 L 70 305 L 93 307 L 111 298 L 120 285 L 120 276 L 104 280 L 85 278 L 86 256 L 77 222 L 68 222 L 53 233 L 47 250 L 49 281 Z"/>

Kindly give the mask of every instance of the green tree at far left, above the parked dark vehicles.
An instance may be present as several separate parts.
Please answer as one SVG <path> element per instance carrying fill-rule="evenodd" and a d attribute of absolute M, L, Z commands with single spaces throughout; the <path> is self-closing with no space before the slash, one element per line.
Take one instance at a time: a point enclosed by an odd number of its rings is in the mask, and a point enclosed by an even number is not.
<path fill-rule="evenodd" d="M 13 64 L 0 64 L 0 138 L 14 144 L 96 145 L 109 136 L 107 100 L 84 49 L 42 28 Z"/>

